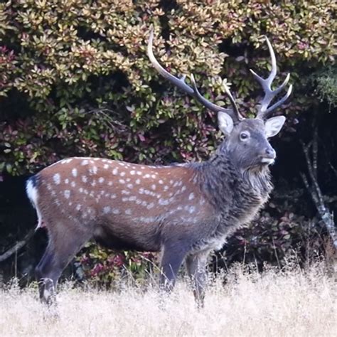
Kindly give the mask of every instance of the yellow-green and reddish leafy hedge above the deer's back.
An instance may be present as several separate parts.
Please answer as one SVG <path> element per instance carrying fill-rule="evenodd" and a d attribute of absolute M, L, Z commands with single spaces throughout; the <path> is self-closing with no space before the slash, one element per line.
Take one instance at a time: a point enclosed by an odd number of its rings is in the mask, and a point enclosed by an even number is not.
<path fill-rule="evenodd" d="M 8 1 L 0 4 L 0 170 L 34 172 L 64 156 L 137 162 L 205 159 L 215 118 L 164 82 L 146 56 L 246 114 L 264 73 L 263 34 L 296 83 L 287 112 L 314 104 L 306 75 L 333 62 L 333 1 Z"/>

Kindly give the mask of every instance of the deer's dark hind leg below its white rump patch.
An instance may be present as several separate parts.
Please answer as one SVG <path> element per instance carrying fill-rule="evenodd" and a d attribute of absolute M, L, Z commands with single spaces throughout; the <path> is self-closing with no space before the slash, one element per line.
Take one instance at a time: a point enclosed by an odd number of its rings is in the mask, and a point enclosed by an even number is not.
<path fill-rule="evenodd" d="M 46 252 L 35 270 L 40 299 L 48 306 L 55 304 L 55 288 L 63 269 L 91 237 L 87 232 L 71 230 L 65 226 L 62 230 L 49 230 Z"/>

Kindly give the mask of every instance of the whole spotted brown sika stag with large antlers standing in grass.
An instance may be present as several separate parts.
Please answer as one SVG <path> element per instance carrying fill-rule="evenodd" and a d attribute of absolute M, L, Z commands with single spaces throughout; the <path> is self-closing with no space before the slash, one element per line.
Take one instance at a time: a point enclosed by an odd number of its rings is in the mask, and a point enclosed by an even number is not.
<path fill-rule="evenodd" d="M 269 107 L 284 89 L 271 85 L 277 66 L 266 38 L 272 71 L 263 79 L 252 70 L 264 90 L 255 119 L 239 112 L 228 87 L 232 109 L 218 107 L 200 95 L 185 77 L 177 78 L 159 65 L 154 68 L 169 82 L 218 114 L 225 140 L 208 161 L 172 166 L 145 166 L 100 158 L 69 158 L 28 179 L 26 190 L 38 214 L 38 228 L 48 231 L 48 247 L 36 267 L 42 301 L 53 302 L 58 278 L 88 240 L 122 250 L 161 251 L 161 287 L 172 289 L 179 267 L 186 261 L 194 295 L 203 306 L 205 264 L 228 235 L 249 223 L 267 201 L 272 184 L 269 165 L 275 151 L 268 138 L 279 132 L 285 117 L 269 117 L 291 93 Z"/>

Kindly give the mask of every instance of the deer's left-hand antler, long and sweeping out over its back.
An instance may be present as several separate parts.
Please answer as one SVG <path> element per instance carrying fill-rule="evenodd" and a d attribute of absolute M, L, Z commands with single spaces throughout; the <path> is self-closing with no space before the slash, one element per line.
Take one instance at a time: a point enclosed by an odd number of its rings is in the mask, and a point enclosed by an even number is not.
<path fill-rule="evenodd" d="M 198 102 L 200 102 L 202 105 L 204 105 L 205 107 L 207 107 L 211 111 L 213 111 L 213 112 L 219 112 L 219 111 L 227 112 L 228 114 L 230 114 L 232 116 L 233 119 L 235 119 L 235 121 L 238 121 L 239 119 L 242 119 L 242 117 L 240 116 L 239 110 L 237 109 L 237 105 L 235 104 L 234 98 L 230 94 L 229 90 L 226 90 L 226 88 L 225 88 L 225 90 L 228 93 L 228 95 L 230 96 L 230 102 L 232 103 L 233 109 L 235 111 L 234 114 L 230 113 L 232 111 L 231 109 L 225 109 L 223 107 L 220 107 L 218 105 L 213 104 L 209 100 L 206 100 L 205 97 L 203 97 L 200 94 L 200 92 L 198 91 L 198 88 L 196 87 L 196 81 L 194 80 L 193 75 L 191 75 L 191 80 L 193 82 L 193 88 L 192 88 L 189 85 L 187 85 L 186 82 L 185 82 L 186 75 L 183 75 L 181 78 L 178 78 L 176 76 L 171 75 L 167 70 L 165 70 L 159 64 L 158 60 L 156 60 L 156 58 L 154 56 L 153 40 L 154 40 L 154 29 L 153 29 L 153 27 L 151 27 L 150 36 L 149 36 L 149 43 L 147 45 L 147 55 L 149 56 L 149 59 L 150 59 L 152 65 L 154 65 L 154 68 L 158 71 L 158 73 L 161 76 L 166 78 L 166 80 L 169 80 L 173 85 L 176 85 L 176 87 L 178 87 L 179 89 L 183 90 L 183 92 L 186 92 L 186 93 L 188 93 L 188 95 L 191 95 L 194 98 L 196 98 L 196 100 L 198 100 Z"/>

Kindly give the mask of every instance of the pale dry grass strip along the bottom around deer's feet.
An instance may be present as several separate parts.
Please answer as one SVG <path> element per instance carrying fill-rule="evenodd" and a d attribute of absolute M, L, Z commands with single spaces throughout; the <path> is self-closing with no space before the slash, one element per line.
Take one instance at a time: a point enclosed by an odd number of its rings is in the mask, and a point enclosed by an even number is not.
<path fill-rule="evenodd" d="M 262 277 L 240 268 L 226 287 L 213 281 L 198 310 L 186 282 L 161 300 L 155 287 L 142 292 L 74 289 L 58 293 L 58 318 L 36 289 L 0 292 L 0 336 L 336 336 L 334 279 L 321 267 Z"/>

